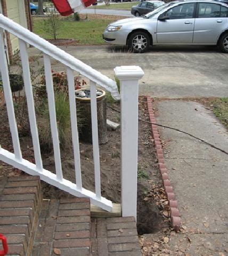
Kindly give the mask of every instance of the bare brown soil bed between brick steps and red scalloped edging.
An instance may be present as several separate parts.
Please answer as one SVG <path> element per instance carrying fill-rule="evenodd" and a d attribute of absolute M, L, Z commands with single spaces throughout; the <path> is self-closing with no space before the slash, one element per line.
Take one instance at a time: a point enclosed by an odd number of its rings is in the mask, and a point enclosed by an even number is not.
<path fill-rule="evenodd" d="M 107 118 L 113 122 L 120 122 L 119 103 L 107 108 Z M 149 121 L 146 98 L 139 99 L 139 118 Z M 23 134 L 19 128 L 22 155 L 24 158 L 34 162 L 32 141 L 29 134 Z M 7 119 L 5 106 L 0 106 L 0 144 L 2 148 L 13 151 L 11 134 Z M 120 130 L 108 131 L 108 143 L 100 145 L 101 163 L 101 187 L 102 196 L 112 202 L 120 202 Z M 80 157 L 82 167 L 83 186 L 94 191 L 94 170 L 92 145 L 80 142 Z M 53 153 L 43 154 L 44 168 L 55 172 Z M 61 151 L 63 177 L 71 181 L 75 180 L 74 158 L 72 151 Z M 152 139 L 150 125 L 139 122 L 139 167 L 138 167 L 138 202 L 137 202 L 137 228 L 139 235 L 153 233 L 160 244 L 166 244 L 164 237 L 169 234 L 170 218 L 169 206 L 162 187 L 159 174 L 156 151 Z M 27 175 L 14 167 L 0 162 L 0 177 L 3 175 Z M 71 197 L 68 193 L 42 182 L 44 198 Z M 156 235 L 155 235 L 156 234 Z M 163 238 L 162 238 L 163 237 Z M 148 238 L 141 236 L 141 245 L 147 253 Z M 162 240 L 163 239 L 163 240 Z M 160 249 L 159 244 L 159 249 Z M 156 245 L 157 246 L 157 245 Z M 155 246 L 155 247 L 156 247 Z M 167 246 L 166 246 L 167 247 Z M 165 247 L 164 250 L 168 250 Z M 159 250 L 158 249 L 158 250 Z M 154 249 L 155 250 L 155 249 Z M 157 249 L 156 249 L 157 250 Z M 163 250 L 163 249 L 162 249 Z M 151 254 L 144 254 L 151 255 Z"/>

